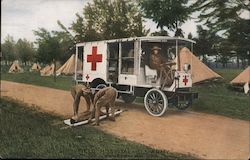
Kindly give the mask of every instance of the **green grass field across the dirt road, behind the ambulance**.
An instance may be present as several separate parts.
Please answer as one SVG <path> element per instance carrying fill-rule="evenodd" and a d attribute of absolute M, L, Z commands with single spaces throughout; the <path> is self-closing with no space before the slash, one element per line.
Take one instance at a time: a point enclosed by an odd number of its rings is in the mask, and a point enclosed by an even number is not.
<path fill-rule="evenodd" d="M 194 101 L 190 110 L 250 120 L 249 96 L 228 89 L 228 83 L 241 71 L 239 69 L 219 69 L 216 72 L 224 77 L 223 83 L 194 86 L 193 90 L 199 93 L 199 99 Z M 73 83 L 72 77 L 58 77 L 57 82 L 54 82 L 53 77 L 41 77 L 38 73 L 3 73 L 2 79 L 63 90 L 69 90 Z M 142 101 L 141 98 L 138 101 Z"/>

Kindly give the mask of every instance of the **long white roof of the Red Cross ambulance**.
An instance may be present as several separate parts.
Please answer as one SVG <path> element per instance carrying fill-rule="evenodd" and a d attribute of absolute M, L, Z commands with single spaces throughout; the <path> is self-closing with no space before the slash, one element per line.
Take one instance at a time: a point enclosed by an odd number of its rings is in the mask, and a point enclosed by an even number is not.
<path fill-rule="evenodd" d="M 191 43 L 196 43 L 195 41 L 191 39 L 181 38 L 181 37 L 168 37 L 168 36 L 146 36 L 146 37 L 131 37 L 131 38 L 121 38 L 121 39 L 111 39 L 111 40 L 102 40 L 102 41 L 92 41 L 92 42 L 82 42 L 78 43 L 76 46 L 82 46 L 86 43 L 93 43 L 93 42 L 126 42 L 126 41 L 133 41 L 133 40 L 141 40 L 141 41 L 156 41 L 156 40 L 183 40 Z"/>

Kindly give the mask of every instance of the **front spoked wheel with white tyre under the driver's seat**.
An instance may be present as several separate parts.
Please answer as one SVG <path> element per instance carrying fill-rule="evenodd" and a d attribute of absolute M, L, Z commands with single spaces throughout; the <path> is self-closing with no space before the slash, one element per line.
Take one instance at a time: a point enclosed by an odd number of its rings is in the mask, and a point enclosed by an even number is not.
<path fill-rule="evenodd" d="M 165 113 L 168 100 L 161 90 L 153 88 L 146 93 L 144 105 L 150 115 L 159 117 Z"/>

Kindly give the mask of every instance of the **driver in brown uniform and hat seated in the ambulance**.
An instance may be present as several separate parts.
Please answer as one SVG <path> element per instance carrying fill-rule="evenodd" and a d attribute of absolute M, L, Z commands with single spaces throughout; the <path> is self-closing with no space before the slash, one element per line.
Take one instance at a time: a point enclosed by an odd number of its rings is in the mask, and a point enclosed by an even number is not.
<path fill-rule="evenodd" d="M 157 70 L 157 76 L 160 77 L 162 87 L 171 85 L 173 82 L 173 75 L 170 72 L 171 65 L 175 63 L 169 63 L 165 57 L 160 55 L 161 48 L 154 46 L 151 50 L 150 68 Z"/>

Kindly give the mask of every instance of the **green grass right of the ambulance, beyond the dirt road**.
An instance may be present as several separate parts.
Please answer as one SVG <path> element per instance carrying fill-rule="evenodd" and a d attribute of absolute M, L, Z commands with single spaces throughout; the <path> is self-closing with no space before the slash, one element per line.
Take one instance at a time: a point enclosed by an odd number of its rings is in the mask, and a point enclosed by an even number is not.
<path fill-rule="evenodd" d="M 242 70 L 220 69 L 216 72 L 224 77 L 224 83 L 194 86 L 193 90 L 199 93 L 199 99 L 191 110 L 250 120 L 249 96 L 229 89 L 229 82 Z"/>

